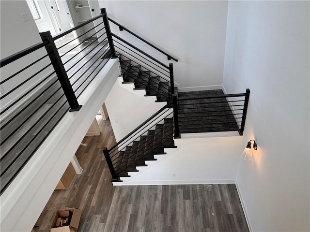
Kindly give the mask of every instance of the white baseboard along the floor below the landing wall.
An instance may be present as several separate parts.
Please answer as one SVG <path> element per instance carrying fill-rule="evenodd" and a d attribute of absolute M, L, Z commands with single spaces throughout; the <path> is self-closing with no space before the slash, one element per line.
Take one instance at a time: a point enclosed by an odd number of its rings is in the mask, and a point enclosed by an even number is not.
<path fill-rule="evenodd" d="M 130 178 L 130 177 L 122 177 Z M 128 181 L 112 182 L 114 186 L 130 186 L 130 185 L 211 185 L 211 184 L 235 184 L 236 180 L 154 180 L 154 181 Z"/>

